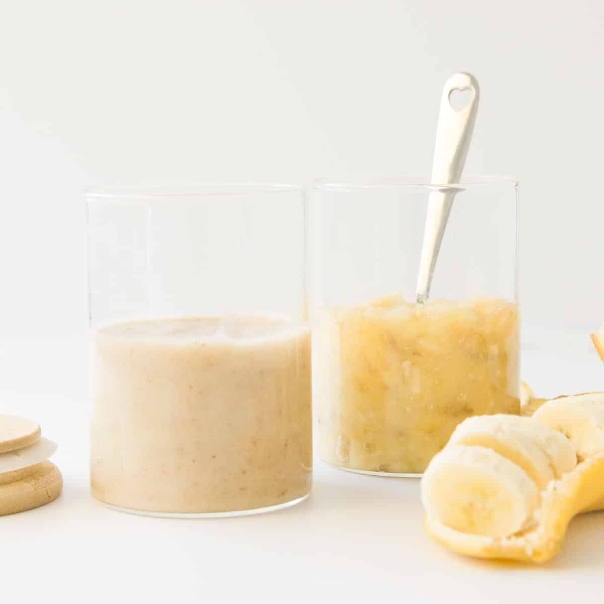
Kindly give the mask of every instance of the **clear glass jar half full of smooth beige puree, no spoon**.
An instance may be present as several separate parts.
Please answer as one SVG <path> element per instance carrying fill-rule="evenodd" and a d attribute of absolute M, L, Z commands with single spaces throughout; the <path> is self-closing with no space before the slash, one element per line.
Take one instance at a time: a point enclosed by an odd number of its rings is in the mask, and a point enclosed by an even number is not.
<path fill-rule="evenodd" d="M 92 495 L 160 516 L 303 500 L 304 191 L 126 188 L 86 200 Z"/>

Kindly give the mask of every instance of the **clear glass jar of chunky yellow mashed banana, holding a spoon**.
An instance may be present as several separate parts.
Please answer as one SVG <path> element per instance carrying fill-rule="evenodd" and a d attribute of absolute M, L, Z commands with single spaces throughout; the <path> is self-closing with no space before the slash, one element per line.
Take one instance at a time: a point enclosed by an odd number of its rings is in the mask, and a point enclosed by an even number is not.
<path fill-rule="evenodd" d="M 431 295 L 419 304 L 435 190 L 455 198 Z M 519 413 L 518 182 L 318 181 L 312 198 L 323 460 L 417 475 L 466 417 Z"/>

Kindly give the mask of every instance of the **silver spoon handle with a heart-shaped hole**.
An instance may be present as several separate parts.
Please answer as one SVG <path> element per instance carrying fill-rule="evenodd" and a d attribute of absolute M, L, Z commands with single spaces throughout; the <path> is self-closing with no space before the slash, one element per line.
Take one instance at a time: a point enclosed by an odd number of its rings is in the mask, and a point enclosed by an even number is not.
<path fill-rule="evenodd" d="M 456 111 L 451 105 L 449 95 L 454 90 L 466 89 L 472 91 L 472 98 L 463 109 Z M 471 74 L 454 74 L 445 82 L 434 144 L 432 184 L 446 185 L 459 181 L 474 130 L 479 98 L 480 87 Z M 420 303 L 428 300 L 434 266 L 454 197 L 453 191 L 436 190 L 428 199 L 428 215 L 417 278 L 417 301 Z"/>

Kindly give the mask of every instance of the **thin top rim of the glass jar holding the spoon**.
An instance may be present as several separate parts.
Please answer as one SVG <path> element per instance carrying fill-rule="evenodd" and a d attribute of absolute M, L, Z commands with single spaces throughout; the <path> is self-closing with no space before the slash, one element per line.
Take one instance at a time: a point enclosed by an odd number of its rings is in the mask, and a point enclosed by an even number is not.
<path fill-rule="evenodd" d="M 520 181 L 515 176 L 464 176 L 460 182 L 438 183 L 431 182 L 425 175 L 405 176 L 369 176 L 367 178 L 318 178 L 312 184 L 313 190 L 320 191 L 354 191 L 374 189 L 406 189 L 418 188 L 427 190 L 464 190 L 468 187 L 489 187 L 493 185 L 513 185 L 518 187 Z"/>

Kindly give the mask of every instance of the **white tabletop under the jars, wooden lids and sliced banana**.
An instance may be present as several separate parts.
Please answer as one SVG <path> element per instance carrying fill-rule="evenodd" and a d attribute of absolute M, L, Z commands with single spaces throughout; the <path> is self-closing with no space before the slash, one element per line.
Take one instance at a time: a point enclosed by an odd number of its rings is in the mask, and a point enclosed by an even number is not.
<path fill-rule="evenodd" d="M 522 375 L 540 396 L 604 390 L 586 335 L 533 330 Z M 538 342 L 538 344 L 536 343 Z M 422 527 L 419 482 L 315 459 L 309 500 L 243 518 L 112 512 L 88 493 L 87 347 L 0 341 L 0 412 L 59 443 L 59 500 L 0 517 L 0 602 L 538 602 L 604 599 L 604 513 L 571 524 L 562 553 L 530 567 L 457 556 Z"/>

